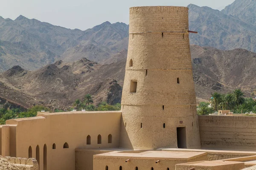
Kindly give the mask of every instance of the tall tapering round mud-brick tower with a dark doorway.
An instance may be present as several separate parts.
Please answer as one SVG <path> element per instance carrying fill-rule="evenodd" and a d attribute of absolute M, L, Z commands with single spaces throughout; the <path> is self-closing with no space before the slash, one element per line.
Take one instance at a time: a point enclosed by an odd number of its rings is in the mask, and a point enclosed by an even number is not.
<path fill-rule="evenodd" d="M 120 147 L 199 148 L 188 8 L 130 8 Z"/>

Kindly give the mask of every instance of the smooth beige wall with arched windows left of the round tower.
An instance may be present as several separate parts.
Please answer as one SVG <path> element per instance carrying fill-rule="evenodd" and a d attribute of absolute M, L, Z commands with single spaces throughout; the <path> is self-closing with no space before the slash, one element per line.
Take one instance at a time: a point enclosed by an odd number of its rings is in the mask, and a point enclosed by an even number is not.
<path fill-rule="evenodd" d="M 41 170 L 44 167 L 47 170 L 75 170 L 76 148 L 119 147 L 120 120 L 121 111 L 64 112 L 41 113 L 37 117 L 8 120 L 6 124 L 16 125 L 16 157 L 28 158 L 31 146 L 32 157 L 38 160 Z M 108 143 L 109 134 L 112 143 Z M 90 144 L 87 144 L 88 135 Z M 102 137 L 101 144 L 98 144 L 98 135 Z M 10 139 L 10 144 L 13 141 Z M 65 142 L 69 148 L 64 148 Z"/>

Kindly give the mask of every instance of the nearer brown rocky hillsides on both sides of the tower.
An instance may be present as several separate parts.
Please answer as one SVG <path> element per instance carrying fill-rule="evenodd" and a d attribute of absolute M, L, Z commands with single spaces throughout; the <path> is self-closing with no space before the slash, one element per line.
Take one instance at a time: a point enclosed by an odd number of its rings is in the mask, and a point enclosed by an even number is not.
<path fill-rule="evenodd" d="M 209 99 L 211 93 L 227 93 L 241 88 L 246 96 L 256 89 L 256 53 L 234 49 L 191 46 L 197 101 Z M 86 58 L 76 62 L 61 60 L 36 71 L 15 66 L 0 74 L 0 98 L 23 107 L 43 104 L 49 108 L 69 108 L 75 99 L 92 94 L 95 104 L 120 102 L 127 51 L 101 65 Z M 107 61 L 108 62 L 108 61 Z"/>

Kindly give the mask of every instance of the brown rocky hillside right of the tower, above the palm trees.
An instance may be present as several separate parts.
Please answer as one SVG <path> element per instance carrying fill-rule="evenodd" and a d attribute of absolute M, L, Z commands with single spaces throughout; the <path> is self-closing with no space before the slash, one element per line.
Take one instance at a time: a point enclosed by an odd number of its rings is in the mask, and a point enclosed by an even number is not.
<path fill-rule="evenodd" d="M 226 93 L 241 88 L 250 96 L 256 89 L 256 53 L 191 45 L 191 57 L 198 101 L 209 99 L 215 91 Z"/>

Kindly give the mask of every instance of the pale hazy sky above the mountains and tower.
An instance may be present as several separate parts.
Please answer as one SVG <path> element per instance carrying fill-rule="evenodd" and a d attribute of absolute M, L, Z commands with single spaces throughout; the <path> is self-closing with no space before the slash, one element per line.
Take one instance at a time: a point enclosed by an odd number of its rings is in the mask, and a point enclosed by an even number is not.
<path fill-rule="evenodd" d="M 209 6 L 223 9 L 234 0 L 0 0 L 0 16 L 20 14 L 66 28 L 85 30 L 105 21 L 129 22 L 132 6 Z"/>

